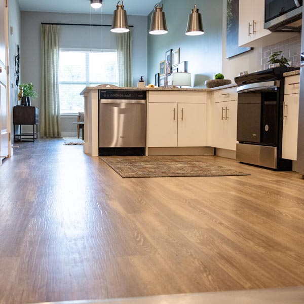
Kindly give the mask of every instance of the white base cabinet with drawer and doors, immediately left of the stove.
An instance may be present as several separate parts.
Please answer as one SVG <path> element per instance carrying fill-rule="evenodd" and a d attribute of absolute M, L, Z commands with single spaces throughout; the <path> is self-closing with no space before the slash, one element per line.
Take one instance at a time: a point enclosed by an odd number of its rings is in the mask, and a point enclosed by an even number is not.
<path fill-rule="evenodd" d="M 237 88 L 218 90 L 211 100 L 211 146 L 236 150 L 237 144 Z M 222 101 L 222 99 L 228 101 Z"/>

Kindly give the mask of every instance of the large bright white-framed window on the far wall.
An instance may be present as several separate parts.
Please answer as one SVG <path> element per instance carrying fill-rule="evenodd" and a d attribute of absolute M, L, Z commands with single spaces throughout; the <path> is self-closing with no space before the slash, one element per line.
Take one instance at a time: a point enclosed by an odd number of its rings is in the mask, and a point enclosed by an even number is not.
<path fill-rule="evenodd" d="M 84 111 L 84 87 L 118 85 L 116 51 L 65 51 L 59 56 L 60 113 Z"/>

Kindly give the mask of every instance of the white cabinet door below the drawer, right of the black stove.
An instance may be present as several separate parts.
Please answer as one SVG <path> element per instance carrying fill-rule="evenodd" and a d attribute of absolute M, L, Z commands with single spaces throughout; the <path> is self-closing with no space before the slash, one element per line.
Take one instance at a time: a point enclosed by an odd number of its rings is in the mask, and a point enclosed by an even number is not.
<path fill-rule="evenodd" d="M 284 96 L 282 158 L 296 161 L 299 94 Z"/>

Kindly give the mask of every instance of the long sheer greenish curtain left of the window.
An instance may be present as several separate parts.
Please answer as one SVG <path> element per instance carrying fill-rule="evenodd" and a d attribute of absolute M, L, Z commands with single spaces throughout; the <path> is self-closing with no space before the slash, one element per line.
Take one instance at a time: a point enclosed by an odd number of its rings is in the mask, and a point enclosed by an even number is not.
<path fill-rule="evenodd" d="M 42 24 L 41 137 L 60 137 L 59 25 Z"/>

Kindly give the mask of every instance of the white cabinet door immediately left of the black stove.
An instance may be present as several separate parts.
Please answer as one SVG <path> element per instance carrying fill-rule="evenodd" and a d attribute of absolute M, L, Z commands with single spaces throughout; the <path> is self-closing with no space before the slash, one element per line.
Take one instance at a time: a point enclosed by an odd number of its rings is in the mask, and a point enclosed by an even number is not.
<path fill-rule="evenodd" d="M 226 101 L 225 103 L 225 118 L 224 118 L 224 134 L 221 147 L 223 149 L 237 149 L 237 113 L 238 101 Z"/>

